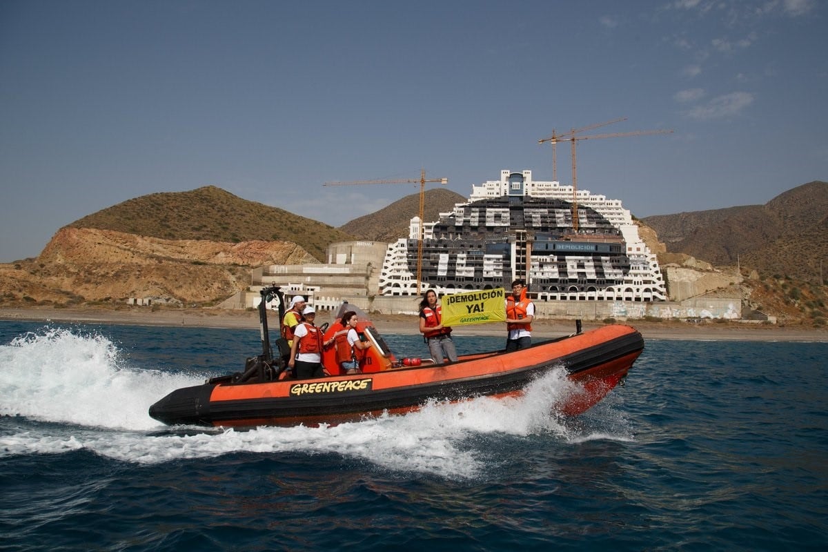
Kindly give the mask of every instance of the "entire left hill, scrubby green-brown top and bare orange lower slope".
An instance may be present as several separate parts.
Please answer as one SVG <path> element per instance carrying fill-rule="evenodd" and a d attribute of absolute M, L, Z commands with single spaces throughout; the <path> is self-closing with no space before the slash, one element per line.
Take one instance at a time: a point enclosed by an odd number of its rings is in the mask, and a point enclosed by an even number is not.
<path fill-rule="evenodd" d="M 249 286 L 255 266 L 320 262 L 330 242 L 350 239 L 215 186 L 143 195 L 60 228 L 34 260 L 0 265 L 0 302 L 205 305 Z"/>

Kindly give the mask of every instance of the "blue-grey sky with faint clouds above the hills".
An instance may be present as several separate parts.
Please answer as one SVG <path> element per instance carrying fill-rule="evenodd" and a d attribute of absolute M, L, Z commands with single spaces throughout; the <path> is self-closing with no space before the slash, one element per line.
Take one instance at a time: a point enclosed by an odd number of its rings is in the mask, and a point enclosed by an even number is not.
<path fill-rule="evenodd" d="M 126 199 L 217 185 L 339 225 L 501 169 L 634 215 L 828 180 L 828 4 L 0 2 L 0 262 Z M 570 184 L 570 148 L 558 180 Z M 432 185 L 433 186 L 433 185 Z"/>

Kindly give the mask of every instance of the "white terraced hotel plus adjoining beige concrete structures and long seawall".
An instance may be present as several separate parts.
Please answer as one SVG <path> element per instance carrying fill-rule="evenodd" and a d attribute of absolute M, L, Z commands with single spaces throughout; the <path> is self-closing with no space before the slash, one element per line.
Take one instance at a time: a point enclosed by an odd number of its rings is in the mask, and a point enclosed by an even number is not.
<path fill-rule="evenodd" d="M 422 289 L 444 295 L 522 277 L 544 317 L 740 317 L 738 298 L 667 301 L 656 255 L 621 201 L 588 190 L 577 198 L 579 233 L 572 226 L 571 186 L 536 182 L 530 170 L 503 170 L 500 180 L 473 185 L 468 202 L 426 223 Z M 366 311 L 416 313 L 412 237 L 419 224 L 412 218 L 409 238 L 390 244 L 332 243 L 326 263 L 261 266 L 252 272 L 250 290 L 219 306 L 254 307 L 261 286 L 276 284 L 288 295 L 306 295 L 317 310 L 348 301 Z"/>

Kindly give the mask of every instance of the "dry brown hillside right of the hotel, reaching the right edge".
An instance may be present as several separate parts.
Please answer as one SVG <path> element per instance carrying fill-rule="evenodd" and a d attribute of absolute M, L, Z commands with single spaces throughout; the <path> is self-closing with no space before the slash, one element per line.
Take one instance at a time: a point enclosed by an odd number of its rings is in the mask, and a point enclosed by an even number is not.
<path fill-rule="evenodd" d="M 814 181 L 763 205 L 643 218 L 667 253 L 738 267 L 749 308 L 780 324 L 828 324 L 828 184 Z"/>

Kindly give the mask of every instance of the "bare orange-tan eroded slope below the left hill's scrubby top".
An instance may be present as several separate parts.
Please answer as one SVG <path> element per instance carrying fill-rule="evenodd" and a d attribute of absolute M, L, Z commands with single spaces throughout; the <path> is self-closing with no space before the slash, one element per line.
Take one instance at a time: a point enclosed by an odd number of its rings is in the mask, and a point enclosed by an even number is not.
<path fill-rule="evenodd" d="M 40 257 L 0 265 L 0 302 L 73 305 L 161 297 L 210 304 L 249 286 L 254 266 L 306 262 L 316 261 L 292 242 L 169 240 L 67 227 Z"/>

